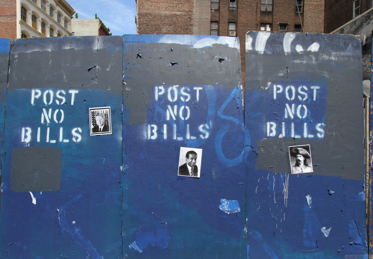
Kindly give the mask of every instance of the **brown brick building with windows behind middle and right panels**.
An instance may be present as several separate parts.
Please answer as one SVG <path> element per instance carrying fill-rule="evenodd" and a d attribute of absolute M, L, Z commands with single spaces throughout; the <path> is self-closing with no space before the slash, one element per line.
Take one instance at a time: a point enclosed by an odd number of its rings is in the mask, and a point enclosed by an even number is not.
<path fill-rule="evenodd" d="M 322 33 L 324 0 L 137 0 L 138 34 L 238 36 L 243 82 L 248 31 Z"/>

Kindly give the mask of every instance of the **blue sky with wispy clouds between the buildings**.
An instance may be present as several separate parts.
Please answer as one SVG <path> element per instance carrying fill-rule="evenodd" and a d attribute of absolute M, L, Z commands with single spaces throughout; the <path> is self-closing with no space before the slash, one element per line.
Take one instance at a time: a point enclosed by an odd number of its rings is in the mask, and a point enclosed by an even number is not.
<path fill-rule="evenodd" d="M 67 0 L 78 18 L 94 19 L 95 13 L 113 35 L 136 34 L 135 0 Z M 73 15 L 75 18 L 75 14 Z"/>

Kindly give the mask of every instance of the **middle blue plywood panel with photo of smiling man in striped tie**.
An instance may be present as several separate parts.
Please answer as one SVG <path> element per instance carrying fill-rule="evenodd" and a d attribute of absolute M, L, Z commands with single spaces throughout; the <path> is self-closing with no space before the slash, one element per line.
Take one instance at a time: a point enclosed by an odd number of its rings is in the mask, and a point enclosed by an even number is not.
<path fill-rule="evenodd" d="M 128 257 L 245 253 L 240 68 L 238 38 L 124 36 L 123 253 Z M 178 176 L 181 147 L 202 149 L 199 178 Z M 180 159 L 184 164 L 185 153 Z"/>

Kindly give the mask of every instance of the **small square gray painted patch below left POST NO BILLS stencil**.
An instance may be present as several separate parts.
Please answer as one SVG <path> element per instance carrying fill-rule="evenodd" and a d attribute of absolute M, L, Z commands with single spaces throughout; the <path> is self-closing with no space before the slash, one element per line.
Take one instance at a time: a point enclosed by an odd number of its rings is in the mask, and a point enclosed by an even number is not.
<path fill-rule="evenodd" d="M 10 189 L 13 192 L 47 192 L 60 188 L 62 149 L 29 146 L 12 150 Z"/>

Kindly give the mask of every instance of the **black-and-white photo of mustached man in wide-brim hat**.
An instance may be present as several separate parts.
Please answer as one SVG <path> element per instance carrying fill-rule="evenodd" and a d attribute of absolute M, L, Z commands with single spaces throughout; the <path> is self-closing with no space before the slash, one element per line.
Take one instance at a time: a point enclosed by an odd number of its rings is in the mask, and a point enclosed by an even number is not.
<path fill-rule="evenodd" d="M 311 155 L 305 148 L 310 150 L 310 145 L 289 146 L 289 154 L 291 157 L 295 158 L 295 165 L 291 167 L 292 174 L 302 174 L 302 173 L 313 172 Z M 311 166 L 308 165 L 307 159 L 309 159 Z M 290 162 L 291 160 L 292 159 L 290 158 Z"/>

